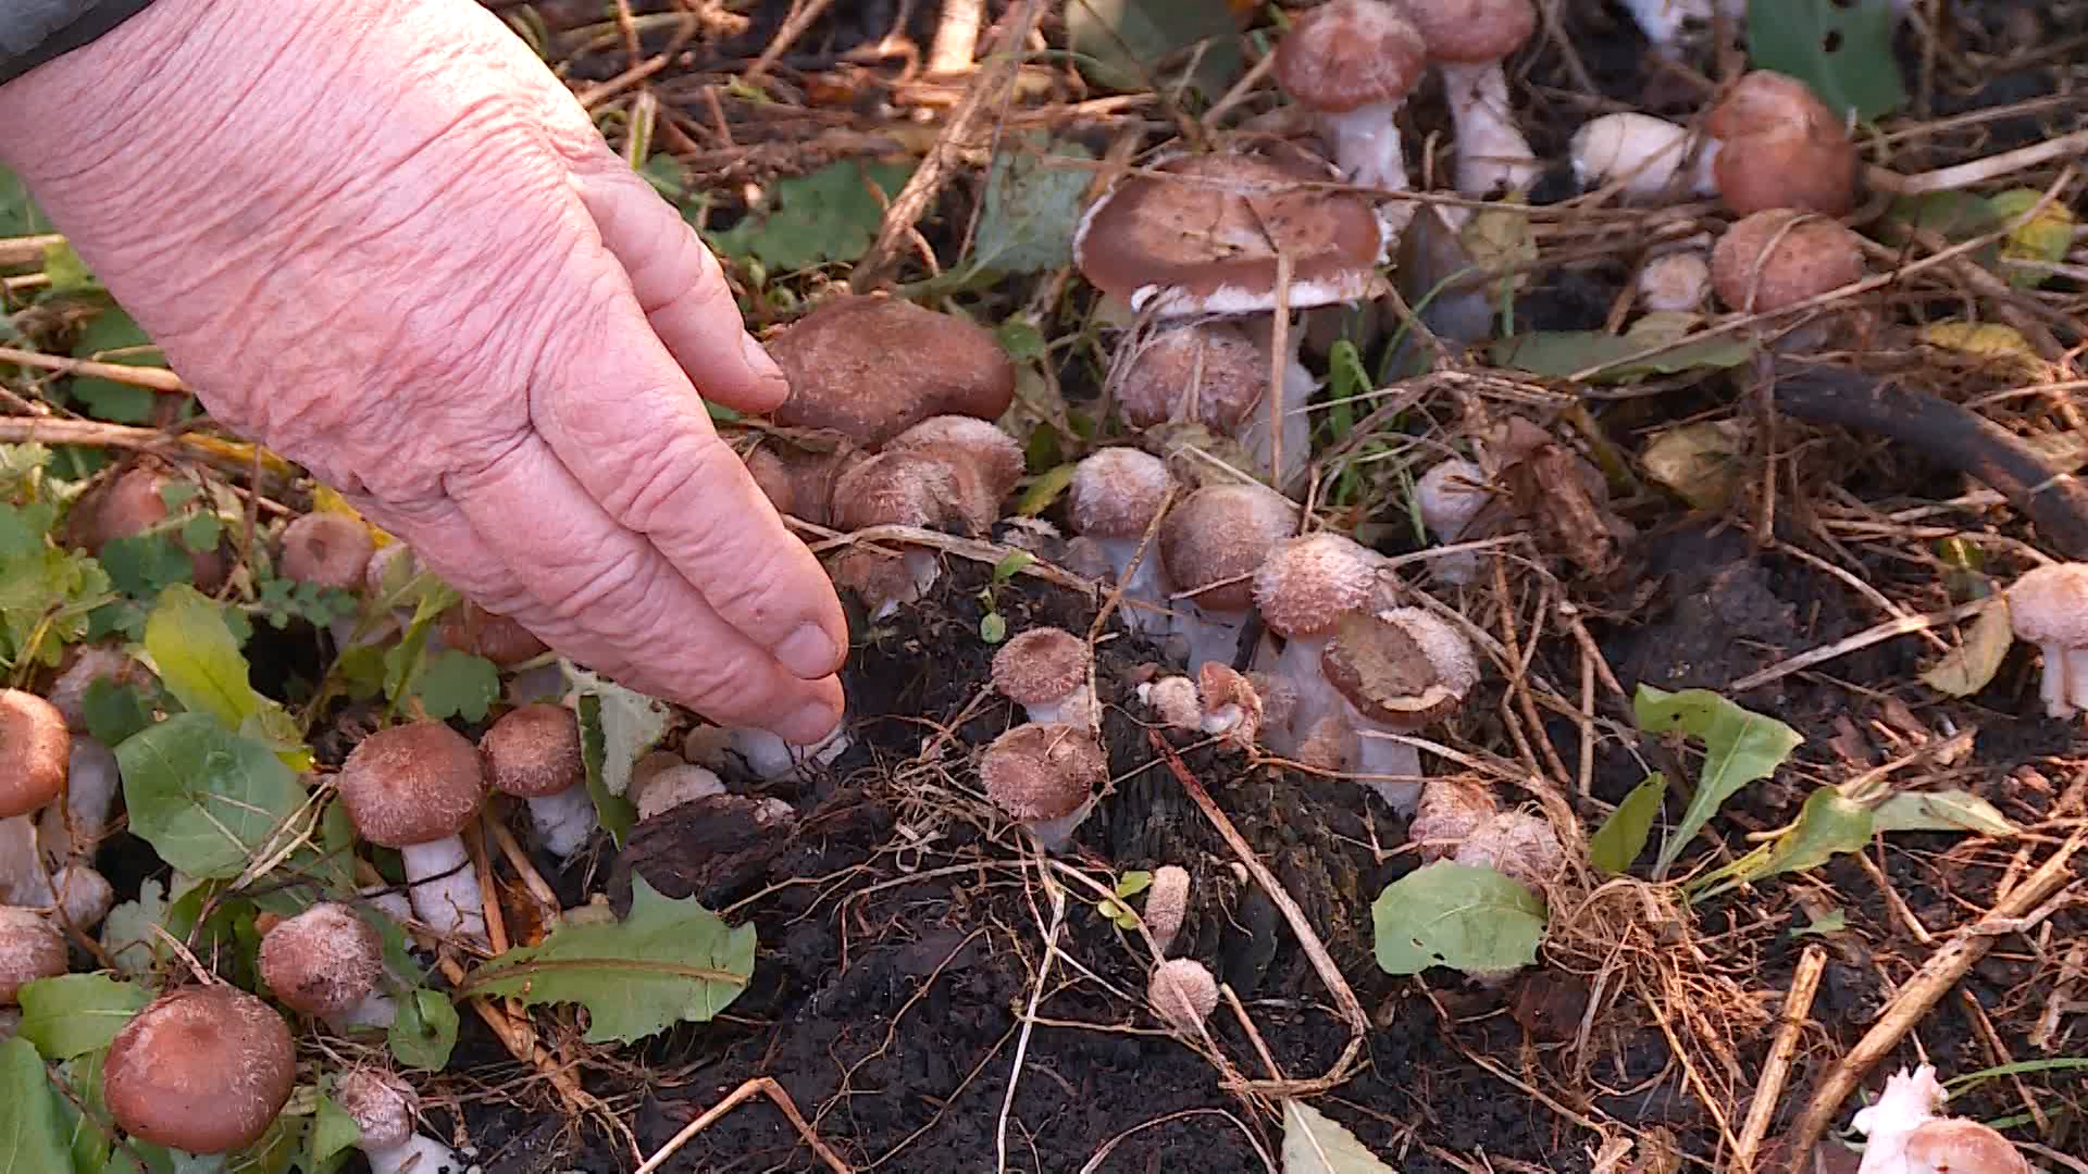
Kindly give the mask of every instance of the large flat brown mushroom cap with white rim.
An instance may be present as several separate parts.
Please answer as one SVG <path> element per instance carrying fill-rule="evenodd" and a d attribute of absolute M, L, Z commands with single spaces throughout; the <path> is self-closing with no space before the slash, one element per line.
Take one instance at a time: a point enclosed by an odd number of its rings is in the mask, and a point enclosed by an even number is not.
<path fill-rule="evenodd" d="M 1290 309 L 1357 301 L 1376 284 L 1384 228 L 1324 161 L 1178 155 L 1088 207 L 1073 236 L 1082 276 L 1132 309 L 1257 313 L 1276 307 L 1278 251 Z"/>

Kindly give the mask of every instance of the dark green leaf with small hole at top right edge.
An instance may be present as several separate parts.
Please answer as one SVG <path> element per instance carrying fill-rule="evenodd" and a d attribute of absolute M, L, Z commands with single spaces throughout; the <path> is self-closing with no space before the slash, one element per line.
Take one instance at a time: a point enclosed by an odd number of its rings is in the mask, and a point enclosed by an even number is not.
<path fill-rule="evenodd" d="M 1804 81 L 1840 119 L 1877 121 L 1906 100 L 1892 0 L 1750 0 L 1748 61 Z"/>

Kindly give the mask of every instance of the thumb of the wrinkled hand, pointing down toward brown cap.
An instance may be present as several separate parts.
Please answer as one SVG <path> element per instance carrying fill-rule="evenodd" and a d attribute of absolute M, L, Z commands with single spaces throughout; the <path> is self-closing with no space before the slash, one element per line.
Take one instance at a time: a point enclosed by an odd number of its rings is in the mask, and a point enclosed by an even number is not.
<path fill-rule="evenodd" d="M 737 412 L 775 409 L 789 384 L 748 334 L 718 259 L 622 159 L 603 163 L 580 163 L 574 188 L 654 332 L 704 399 Z"/>

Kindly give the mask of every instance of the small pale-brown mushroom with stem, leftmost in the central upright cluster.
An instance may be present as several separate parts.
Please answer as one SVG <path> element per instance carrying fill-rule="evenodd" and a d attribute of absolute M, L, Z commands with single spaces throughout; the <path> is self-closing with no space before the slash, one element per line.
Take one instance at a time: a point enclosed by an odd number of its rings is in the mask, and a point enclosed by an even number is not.
<path fill-rule="evenodd" d="M 1073 533 L 1109 564 L 1123 591 L 1117 614 L 1134 633 L 1165 635 L 1173 627 L 1167 614 L 1171 587 L 1159 541 L 1155 537 L 1146 543 L 1171 489 L 1167 462 L 1130 447 L 1090 453 L 1073 466 L 1073 480 L 1065 489 Z"/>

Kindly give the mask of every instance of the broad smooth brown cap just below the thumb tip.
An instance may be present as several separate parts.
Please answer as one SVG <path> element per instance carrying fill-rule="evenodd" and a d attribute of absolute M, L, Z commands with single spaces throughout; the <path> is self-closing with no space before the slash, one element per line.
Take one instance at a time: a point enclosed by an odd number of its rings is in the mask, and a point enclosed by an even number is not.
<path fill-rule="evenodd" d="M 981 326 L 889 297 L 837 297 L 768 341 L 789 378 L 775 422 L 883 445 L 929 416 L 994 420 L 1015 363 Z"/>

